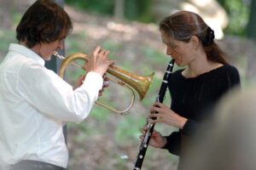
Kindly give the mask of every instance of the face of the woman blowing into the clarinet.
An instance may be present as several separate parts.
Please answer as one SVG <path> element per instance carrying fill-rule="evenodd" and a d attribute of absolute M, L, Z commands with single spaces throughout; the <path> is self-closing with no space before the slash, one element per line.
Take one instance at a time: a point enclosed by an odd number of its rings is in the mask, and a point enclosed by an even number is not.
<path fill-rule="evenodd" d="M 173 39 L 164 31 L 161 31 L 162 41 L 166 44 L 166 54 L 175 59 L 178 66 L 189 65 L 195 59 L 195 50 L 191 41 L 182 42 Z"/>

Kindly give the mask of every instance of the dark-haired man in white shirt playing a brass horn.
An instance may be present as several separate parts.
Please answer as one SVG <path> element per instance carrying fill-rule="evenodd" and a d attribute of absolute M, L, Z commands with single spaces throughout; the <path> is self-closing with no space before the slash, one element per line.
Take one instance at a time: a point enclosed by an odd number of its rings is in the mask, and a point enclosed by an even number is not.
<path fill-rule="evenodd" d="M 63 48 L 72 30 L 63 8 L 38 0 L 16 28 L 19 43 L 9 45 L 0 65 L 0 164 L 13 170 L 56 170 L 67 167 L 62 126 L 89 115 L 102 76 L 113 64 L 109 52 L 97 47 L 86 63 L 83 84 L 73 88 L 44 67 Z"/>

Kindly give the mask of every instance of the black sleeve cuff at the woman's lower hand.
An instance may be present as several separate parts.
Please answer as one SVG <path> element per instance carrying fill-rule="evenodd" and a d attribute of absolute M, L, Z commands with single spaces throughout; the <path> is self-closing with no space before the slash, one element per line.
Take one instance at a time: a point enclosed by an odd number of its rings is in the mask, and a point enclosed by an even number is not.
<path fill-rule="evenodd" d="M 180 155 L 180 145 L 181 145 L 181 133 L 174 132 L 169 136 L 165 136 L 167 143 L 162 149 L 168 150 L 170 153 L 179 156 Z"/>

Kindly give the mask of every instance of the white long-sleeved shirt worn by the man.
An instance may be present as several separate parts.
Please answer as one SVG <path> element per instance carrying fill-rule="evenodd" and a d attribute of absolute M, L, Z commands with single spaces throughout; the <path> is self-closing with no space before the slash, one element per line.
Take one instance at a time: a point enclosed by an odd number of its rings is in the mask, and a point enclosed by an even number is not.
<path fill-rule="evenodd" d="M 89 115 L 102 82 L 89 72 L 73 90 L 38 54 L 10 44 L 0 65 L 0 163 L 37 160 L 67 167 L 62 125 Z"/>

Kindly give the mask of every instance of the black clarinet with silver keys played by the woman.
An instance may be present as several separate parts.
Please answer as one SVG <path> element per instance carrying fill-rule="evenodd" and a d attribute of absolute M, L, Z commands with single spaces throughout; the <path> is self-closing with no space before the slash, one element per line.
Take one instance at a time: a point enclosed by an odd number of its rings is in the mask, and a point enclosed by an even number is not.
<path fill-rule="evenodd" d="M 170 61 L 169 65 L 167 66 L 166 73 L 163 78 L 163 82 L 160 86 L 160 92 L 156 98 L 156 102 L 163 103 L 163 100 L 166 95 L 166 88 L 168 87 L 168 82 L 170 81 L 170 78 L 172 75 L 173 65 L 174 65 L 174 59 L 172 59 Z M 154 113 L 157 113 L 157 112 L 154 112 Z M 154 114 L 154 113 L 152 113 L 152 114 Z M 140 170 L 143 166 L 143 160 L 146 155 L 146 151 L 148 149 L 148 143 L 149 143 L 151 134 L 154 130 L 154 124 L 147 122 L 147 127 L 148 127 L 147 133 L 145 134 L 144 139 L 139 146 L 137 160 L 135 161 L 135 166 L 134 166 L 133 170 Z"/>

